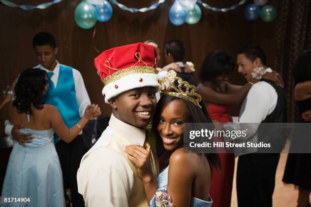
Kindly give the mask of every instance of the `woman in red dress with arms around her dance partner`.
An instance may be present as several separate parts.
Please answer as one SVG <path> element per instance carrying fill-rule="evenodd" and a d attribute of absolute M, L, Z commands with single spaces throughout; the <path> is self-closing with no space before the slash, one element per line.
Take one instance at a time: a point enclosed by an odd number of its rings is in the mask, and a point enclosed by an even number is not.
<path fill-rule="evenodd" d="M 203 61 L 199 77 L 201 83 L 197 92 L 202 95 L 207 112 L 212 121 L 227 123 L 231 105 L 239 104 L 252 84 L 236 86 L 228 83 L 228 74 L 233 71 L 234 61 L 225 51 L 214 51 Z M 222 170 L 213 170 L 210 183 L 210 196 L 213 207 L 229 207 L 231 204 L 234 173 L 234 154 L 220 153 Z"/>

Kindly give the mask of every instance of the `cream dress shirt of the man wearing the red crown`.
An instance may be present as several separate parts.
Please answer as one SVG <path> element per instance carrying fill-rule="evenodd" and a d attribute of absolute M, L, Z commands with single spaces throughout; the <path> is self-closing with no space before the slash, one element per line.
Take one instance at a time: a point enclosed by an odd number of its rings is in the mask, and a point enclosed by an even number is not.
<path fill-rule="evenodd" d="M 143 146 L 145 130 L 111 115 L 109 126 L 82 157 L 77 172 L 78 192 L 83 195 L 85 206 L 128 206 L 134 183 L 133 170 L 121 156 L 123 152 L 107 147 L 111 139 L 118 139 L 124 145 Z"/>

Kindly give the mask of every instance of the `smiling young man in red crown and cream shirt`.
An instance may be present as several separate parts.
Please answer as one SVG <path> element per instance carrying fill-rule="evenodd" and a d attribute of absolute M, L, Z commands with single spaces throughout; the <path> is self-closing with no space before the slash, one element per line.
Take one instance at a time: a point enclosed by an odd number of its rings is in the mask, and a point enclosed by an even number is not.
<path fill-rule="evenodd" d="M 137 43 L 106 50 L 95 58 L 112 115 L 100 139 L 83 156 L 77 173 L 78 191 L 86 206 L 148 206 L 137 168 L 122 148 L 138 144 L 150 150 L 152 170 L 158 175 L 158 160 L 144 129 L 160 89 L 154 72 L 156 57 L 152 46 Z"/>

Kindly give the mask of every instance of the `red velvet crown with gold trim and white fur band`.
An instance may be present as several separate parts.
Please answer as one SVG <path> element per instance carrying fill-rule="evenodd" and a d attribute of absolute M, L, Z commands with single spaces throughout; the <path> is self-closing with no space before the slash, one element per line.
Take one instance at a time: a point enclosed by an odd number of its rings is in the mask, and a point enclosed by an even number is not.
<path fill-rule="evenodd" d="M 104 51 L 95 58 L 97 73 L 104 83 L 105 102 L 134 88 L 152 86 L 160 90 L 157 51 L 143 43 L 125 45 Z"/>

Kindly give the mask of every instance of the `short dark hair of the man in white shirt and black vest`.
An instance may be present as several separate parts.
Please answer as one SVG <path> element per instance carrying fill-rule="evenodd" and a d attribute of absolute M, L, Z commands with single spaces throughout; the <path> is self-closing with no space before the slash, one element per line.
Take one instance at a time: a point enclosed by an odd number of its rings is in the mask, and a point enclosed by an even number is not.
<path fill-rule="evenodd" d="M 259 58 L 263 65 L 267 65 L 267 57 L 259 46 L 246 45 L 239 49 L 238 54 L 244 54 L 247 59 L 255 61 Z"/>

